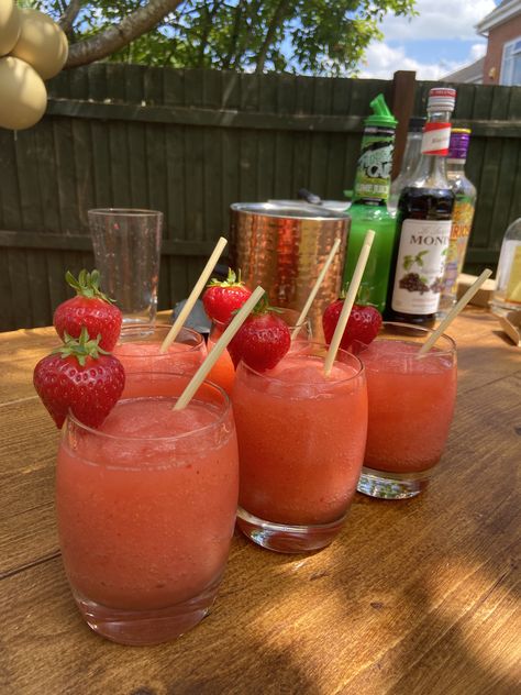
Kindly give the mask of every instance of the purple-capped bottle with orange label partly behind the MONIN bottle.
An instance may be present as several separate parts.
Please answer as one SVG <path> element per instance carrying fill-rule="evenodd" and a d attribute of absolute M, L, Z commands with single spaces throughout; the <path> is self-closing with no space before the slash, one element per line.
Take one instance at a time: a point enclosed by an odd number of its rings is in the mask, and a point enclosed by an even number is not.
<path fill-rule="evenodd" d="M 447 156 L 447 179 L 456 197 L 452 213 L 451 241 L 446 254 L 439 317 L 445 316 L 457 300 L 457 277 L 463 269 L 476 210 L 476 187 L 465 176 L 470 130 L 454 128 Z"/>

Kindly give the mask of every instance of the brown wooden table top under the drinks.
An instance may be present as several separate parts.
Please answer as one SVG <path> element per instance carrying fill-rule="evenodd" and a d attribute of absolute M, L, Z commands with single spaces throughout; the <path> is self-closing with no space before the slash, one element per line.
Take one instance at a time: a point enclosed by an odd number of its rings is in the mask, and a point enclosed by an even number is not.
<path fill-rule="evenodd" d="M 342 534 L 281 555 L 236 534 L 210 616 L 158 647 L 82 621 L 54 516 L 58 433 L 32 387 L 52 329 L 0 334 L 3 695 L 511 695 L 521 682 L 521 352 L 465 311 L 456 415 L 412 500 L 357 495 Z M 518 487 L 517 487 L 518 485 Z"/>

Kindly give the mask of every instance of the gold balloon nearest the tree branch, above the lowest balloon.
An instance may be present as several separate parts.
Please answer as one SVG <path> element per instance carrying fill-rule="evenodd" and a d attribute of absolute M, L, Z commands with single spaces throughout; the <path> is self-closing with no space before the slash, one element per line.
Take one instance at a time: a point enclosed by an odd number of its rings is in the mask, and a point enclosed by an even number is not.
<path fill-rule="evenodd" d="M 59 73 L 67 60 L 67 36 L 49 16 L 37 10 L 20 10 L 22 29 L 11 55 L 34 67 L 42 79 Z"/>

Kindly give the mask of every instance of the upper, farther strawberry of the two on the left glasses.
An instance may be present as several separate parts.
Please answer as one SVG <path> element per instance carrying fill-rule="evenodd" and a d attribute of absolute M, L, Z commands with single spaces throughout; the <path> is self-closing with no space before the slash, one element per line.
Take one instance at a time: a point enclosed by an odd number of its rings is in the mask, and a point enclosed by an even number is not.
<path fill-rule="evenodd" d="M 53 323 L 59 338 L 64 340 L 65 333 L 79 338 L 85 326 L 89 335 L 101 335 L 100 348 L 110 352 L 120 337 L 122 313 L 100 290 L 100 274 L 81 271 L 76 279 L 67 271 L 65 279 L 77 295 L 54 312 Z"/>

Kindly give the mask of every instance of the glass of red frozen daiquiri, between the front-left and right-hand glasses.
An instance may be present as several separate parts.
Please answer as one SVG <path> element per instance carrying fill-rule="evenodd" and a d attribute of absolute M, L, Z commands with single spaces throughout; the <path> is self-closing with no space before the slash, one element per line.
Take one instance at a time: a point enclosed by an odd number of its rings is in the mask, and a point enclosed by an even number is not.
<path fill-rule="evenodd" d="M 328 545 L 356 490 L 367 432 L 364 368 L 339 351 L 325 377 L 325 351 L 308 343 L 268 372 L 237 367 L 232 397 L 241 461 L 237 522 L 271 550 Z"/>

